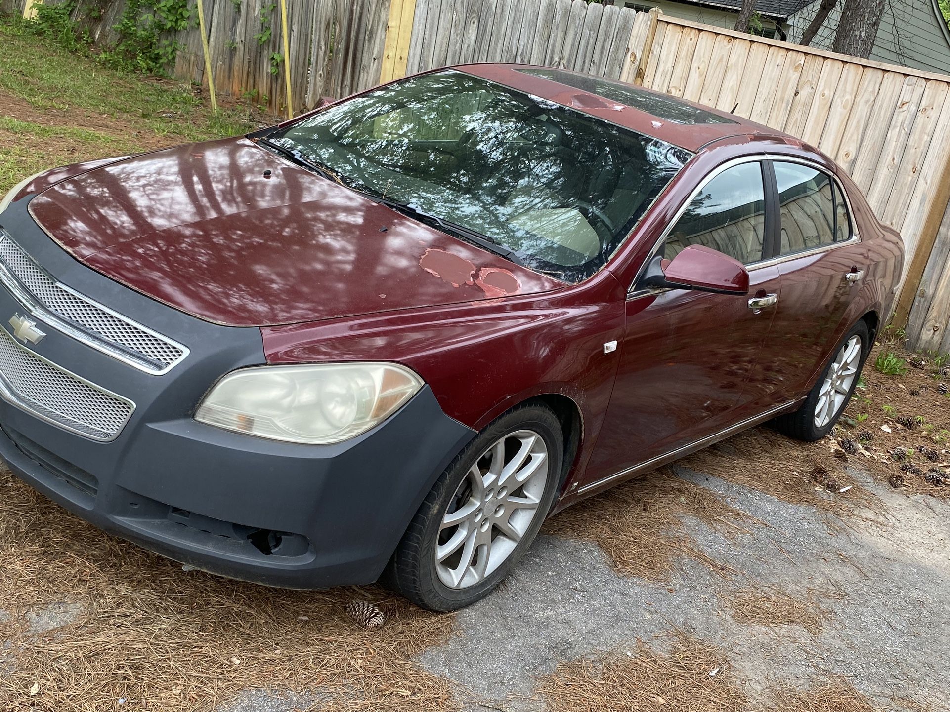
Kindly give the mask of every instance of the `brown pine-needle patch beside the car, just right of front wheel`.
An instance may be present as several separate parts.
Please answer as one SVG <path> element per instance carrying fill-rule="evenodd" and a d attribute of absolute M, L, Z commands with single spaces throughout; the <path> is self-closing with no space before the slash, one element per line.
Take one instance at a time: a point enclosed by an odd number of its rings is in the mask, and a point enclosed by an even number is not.
<path fill-rule="evenodd" d="M 748 532 L 755 520 L 710 490 L 675 477 L 668 469 L 618 485 L 556 515 L 547 534 L 591 541 L 627 576 L 666 580 L 677 556 L 688 556 L 722 575 L 734 571 L 694 546 L 683 531 L 694 516 L 726 535 Z"/>

